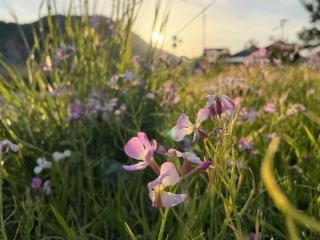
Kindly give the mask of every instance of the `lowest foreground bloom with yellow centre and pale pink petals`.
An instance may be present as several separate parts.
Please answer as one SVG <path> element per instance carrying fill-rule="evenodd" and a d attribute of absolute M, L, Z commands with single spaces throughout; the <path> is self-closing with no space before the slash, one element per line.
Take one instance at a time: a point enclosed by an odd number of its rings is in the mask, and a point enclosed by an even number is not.
<path fill-rule="evenodd" d="M 154 181 L 148 183 L 149 197 L 152 206 L 173 207 L 186 200 L 187 194 L 174 194 L 164 191 L 165 187 L 173 186 L 180 181 L 180 176 L 175 165 L 165 162 L 161 165 L 160 175 Z"/>

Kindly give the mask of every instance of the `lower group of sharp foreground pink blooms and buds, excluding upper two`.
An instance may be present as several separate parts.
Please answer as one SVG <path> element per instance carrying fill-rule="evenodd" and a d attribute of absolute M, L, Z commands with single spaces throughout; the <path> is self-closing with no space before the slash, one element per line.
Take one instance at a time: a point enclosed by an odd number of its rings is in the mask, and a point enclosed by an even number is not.
<path fill-rule="evenodd" d="M 123 165 L 123 169 L 126 171 L 138 171 L 149 166 L 157 175 L 155 180 L 148 183 L 152 206 L 156 208 L 176 206 L 185 201 L 187 195 L 167 192 L 165 189 L 179 183 L 182 177 L 187 178 L 205 171 L 211 166 L 211 162 L 208 160 L 201 161 L 200 158 L 192 153 L 181 153 L 178 150 L 169 149 L 166 153 L 167 162 L 164 162 L 159 167 L 153 157 L 156 149 L 156 140 L 150 142 L 144 132 L 139 132 L 136 137 L 131 138 L 124 146 L 125 153 L 139 162 L 133 165 Z M 184 159 L 184 163 L 180 168 L 180 174 L 175 164 L 171 161 L 173 157 Z M 191 163 L 197 165 L 192 170 L 190 169 Z"/>

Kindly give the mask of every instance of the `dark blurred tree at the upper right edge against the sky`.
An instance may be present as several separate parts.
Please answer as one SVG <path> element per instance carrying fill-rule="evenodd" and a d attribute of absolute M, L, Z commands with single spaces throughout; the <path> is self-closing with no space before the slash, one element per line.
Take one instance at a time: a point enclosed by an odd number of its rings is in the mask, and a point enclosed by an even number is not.
<path fill-rule="evenodd" d="M 304 28 L 299 37 L 307 45 L 320 45 L 320 0 L 301 0 L 305 9 L 310 13 L 311 24 L 310 28 Z"/>

